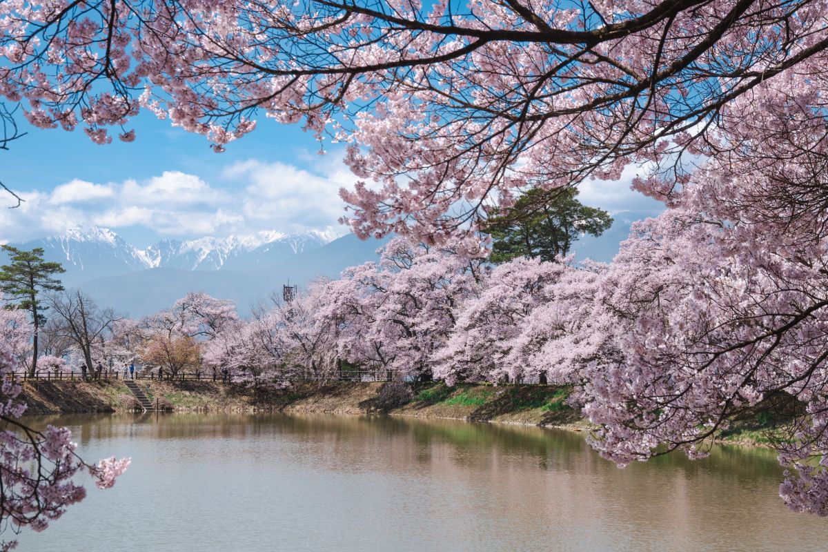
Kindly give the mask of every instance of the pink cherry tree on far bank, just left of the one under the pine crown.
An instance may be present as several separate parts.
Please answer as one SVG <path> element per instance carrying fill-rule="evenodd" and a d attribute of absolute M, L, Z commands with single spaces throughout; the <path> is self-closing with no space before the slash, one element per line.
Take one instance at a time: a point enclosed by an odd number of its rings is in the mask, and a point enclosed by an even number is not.
<path fill-rule="evenodd" d="M 431 356 L 448 339 L 455 310 L 474 293 L 483 272 L 481 262 L 455 250 L 393 239 L 378 263 L 343 274 L 351 289 L 335 313 L 347 326 L 340 353 L 399 378 L 431 379 Z"/>

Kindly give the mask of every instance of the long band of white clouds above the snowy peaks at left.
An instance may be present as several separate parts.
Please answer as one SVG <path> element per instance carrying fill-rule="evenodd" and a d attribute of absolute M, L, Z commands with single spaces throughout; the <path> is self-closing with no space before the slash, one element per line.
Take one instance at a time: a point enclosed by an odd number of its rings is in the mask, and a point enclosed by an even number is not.
<path fill-rule="evenodd" d="M 329 169 L 329 167 L 326 167 Z M 70 180 L 51 192 L 22 193 L 17 209 L 0 196 L 0 242 L 20 242 L 77 226 L 147 228 L 165 238 L 319 230 L 341 235 L 339 187 L 354 179 L 341 161 L 330 174 L 244 161 L 216 175 L 165 171 L 148 180 Z"/>

